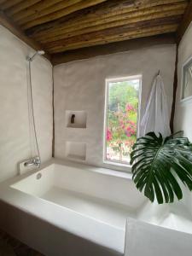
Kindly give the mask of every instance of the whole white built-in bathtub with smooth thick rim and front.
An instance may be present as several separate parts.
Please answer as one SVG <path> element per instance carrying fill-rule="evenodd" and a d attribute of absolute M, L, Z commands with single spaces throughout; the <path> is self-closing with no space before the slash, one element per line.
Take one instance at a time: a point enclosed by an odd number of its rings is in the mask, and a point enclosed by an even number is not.
<path fill-rule="evenodd" d="M 192 233 L 184 204 L 148 203 L 131 174 L 60 160 L 1 183 L 0 200 L 3 230 L 48 256 L 124 255 L 127 218 Z"/>

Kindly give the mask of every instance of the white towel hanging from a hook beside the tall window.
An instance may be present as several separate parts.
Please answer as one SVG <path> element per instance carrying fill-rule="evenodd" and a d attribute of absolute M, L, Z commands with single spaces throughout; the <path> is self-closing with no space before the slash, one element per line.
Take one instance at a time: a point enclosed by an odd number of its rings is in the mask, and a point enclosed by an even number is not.
<path fill-rule="evenodd" d="M 139 136 L 144 136 L 149 131 L 154 131 L 156 135 L 160 132 L 163 137 L 171 135 L 168 102 L 160 74 L 154 79 L 147 107 L 140 124 Z"/>

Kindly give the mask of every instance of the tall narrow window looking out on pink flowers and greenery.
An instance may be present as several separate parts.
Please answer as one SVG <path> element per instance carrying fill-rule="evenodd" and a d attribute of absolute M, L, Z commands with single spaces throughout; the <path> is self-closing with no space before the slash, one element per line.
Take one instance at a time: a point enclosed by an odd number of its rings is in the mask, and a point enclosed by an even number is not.
<path fill-rule="evenodd" d="M 137 140 L 141 76 L 106 81 L 104 160 L 129 165 Z"/>

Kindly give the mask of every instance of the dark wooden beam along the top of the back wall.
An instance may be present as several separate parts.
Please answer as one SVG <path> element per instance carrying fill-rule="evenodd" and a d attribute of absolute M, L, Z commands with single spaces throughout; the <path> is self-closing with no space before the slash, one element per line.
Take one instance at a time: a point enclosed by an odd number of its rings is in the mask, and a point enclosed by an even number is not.
<path fill-rule="evenodd" d="M 161 34 L 147 38 L 136 38 L 122 42 L 116 42 L 105 45 L 97 45 L 83 49 L 74 49 L 64 53 L 51 55 L 51 62 L 53 65 L 66 63 L 69 61 L 77 61 L 89 59 L 100 55 L 110 55 L 119 52 L 125 52 L 134 49 L 143 49 L 153 47 L 160 44 L 175 44 L 175 37 L 173 33 Z"/>

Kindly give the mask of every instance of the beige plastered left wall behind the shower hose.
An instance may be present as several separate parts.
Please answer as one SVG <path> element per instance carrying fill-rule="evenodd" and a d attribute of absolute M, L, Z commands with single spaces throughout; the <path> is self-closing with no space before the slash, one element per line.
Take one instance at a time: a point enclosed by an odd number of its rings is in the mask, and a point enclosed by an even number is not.
<path fill-rule="evenodd" d="M 0 26 L 0 181 L 17 174 L 17 164 L 32 155 L 27 105 L 26 55 L 34 51 Z M 52 154 L 52 66 L 32 62 L 34 113 L 43 161 Z"/>

